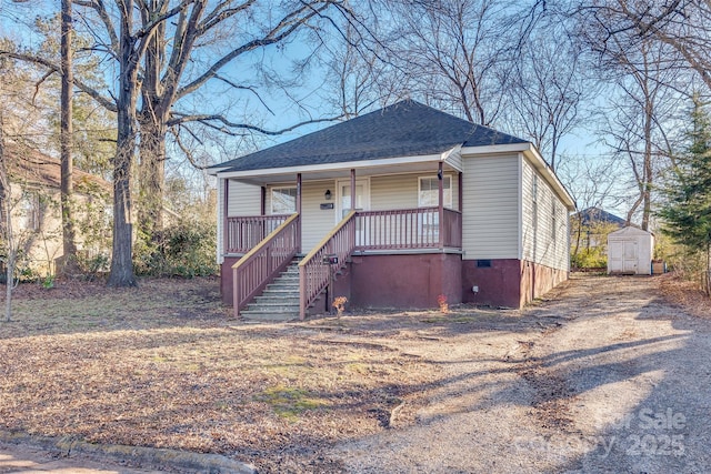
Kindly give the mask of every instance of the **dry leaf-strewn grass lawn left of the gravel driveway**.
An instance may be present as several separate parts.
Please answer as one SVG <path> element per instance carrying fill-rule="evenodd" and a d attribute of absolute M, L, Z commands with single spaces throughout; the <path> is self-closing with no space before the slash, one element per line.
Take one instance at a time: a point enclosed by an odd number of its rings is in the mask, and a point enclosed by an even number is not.
<path fill-rule="evenodd" d="M 0 324 L 0 427 L 339 471 L 311 454 L 383 430 L 437 379 L 433 364 L 370 342 L 380 320 L 374 332 L 353 330 L 356 317 L 247 324 L 217 290 L 210 279 L 21 286 L 14 321 Z"/>

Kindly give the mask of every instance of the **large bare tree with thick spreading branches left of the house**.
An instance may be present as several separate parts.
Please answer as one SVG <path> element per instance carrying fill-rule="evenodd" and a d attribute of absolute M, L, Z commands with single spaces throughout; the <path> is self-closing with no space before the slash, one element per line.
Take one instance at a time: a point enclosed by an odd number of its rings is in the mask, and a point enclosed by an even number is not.
<path fill-rule="evenodd" d="M 144 215 L 156 222 L 160 220 L 169 129 L 193 137 L 192 127 L 198 124 L 226 133 L 278 134 L 302 124 L 270 131 L 229 113 L 210 111 L 210 102 L 196 107 L 189 97 L 220 83 L 263 103 L 250 83 L 254 78 L 239 73 L 249 70 L 253 52 L 267 53 L 271 47 L 287 44 L 302 30 L 319 31 L 338 24 L 340 19 L 329 14 L 334 12 L 342 18 L 350 10 L 340 0 L 287 2 L 279 7 L 269 0 L 117 0 L 116 6 L 74 0 L 74 3 L 83 8 L 80 18 L 84 29 L 94 34 L 92 51 L 112 58 L 118 64 L 116 91 L 110 95 L 82 81 L 77 80 L 76 85 L 117 113 L 114 239 L 109 284 L 133 285 L 131 169 L 137 147 L 141 150 L 141 167 L 148 170 L 142 173 L 142 184 L 147 186 L 142 192 L 156 196 L 148 204 L 152 209 Z M 18 52 L 9 56 L 60 70 L 52 61 L 37 56 Z M 219 110 L 221 101 L 213 102 Z M 322 120 L 310 118 L 303 123 Z"/>

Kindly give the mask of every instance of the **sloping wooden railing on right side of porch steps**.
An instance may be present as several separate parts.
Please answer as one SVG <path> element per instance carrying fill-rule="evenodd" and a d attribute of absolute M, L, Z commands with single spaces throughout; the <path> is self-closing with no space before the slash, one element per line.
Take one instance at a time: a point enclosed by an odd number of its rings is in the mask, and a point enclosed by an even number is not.
<path fill-rule="evenodd" d="M 343 220 L 299 262 L 300 314 L 303 320 L 307 310 L 329 285 L 333 272 L 346 265 L 356 249 L 356 211 Z M 338 263 L 324 263 L 326 258 L 336 258 Z"/>

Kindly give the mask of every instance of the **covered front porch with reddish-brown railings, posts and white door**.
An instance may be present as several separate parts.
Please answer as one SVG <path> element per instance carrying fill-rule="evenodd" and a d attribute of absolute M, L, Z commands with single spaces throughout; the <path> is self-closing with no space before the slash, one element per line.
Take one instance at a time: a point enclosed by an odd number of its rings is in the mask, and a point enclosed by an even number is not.
<path fill-rule="evenodd" d="M 353 259 L 461 259 L 461 172 L 437 158 L 365 170 L 221 179 L 223 300 L 239 314 L 298 256 L 303 317 L 329 288 L 327 300 L 332 299 L 333 275 L 342 274 Z M 246 186 L 251 202 L 242 195 L 231 198 L 244 194 Z M 254 201 L 259 212 L 244 214 L 250 205 L 254 209 Z"/>

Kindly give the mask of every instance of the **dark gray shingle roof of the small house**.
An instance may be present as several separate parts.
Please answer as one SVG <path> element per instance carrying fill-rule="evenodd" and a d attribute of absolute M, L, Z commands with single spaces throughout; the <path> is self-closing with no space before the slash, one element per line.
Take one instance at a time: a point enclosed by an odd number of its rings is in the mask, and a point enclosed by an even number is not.
<path fill-rule="evenodd" d="M 455 145 L 525 140 L 477 125 L 415 101 L 402 101 L 212 168 L 251 171 L 442 153 Z"/>

